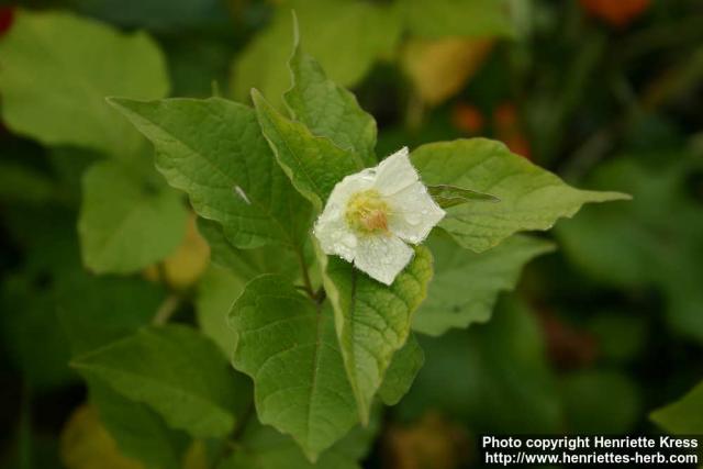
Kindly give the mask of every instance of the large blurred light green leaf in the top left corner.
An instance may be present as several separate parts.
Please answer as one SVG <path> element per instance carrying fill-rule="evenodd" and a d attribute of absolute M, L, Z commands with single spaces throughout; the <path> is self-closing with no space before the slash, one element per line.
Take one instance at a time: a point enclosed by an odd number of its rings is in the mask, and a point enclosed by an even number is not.
<path fill-rule="evenodd" d="M 4 123 L 46 145 L 133 155 L 141 138 L 104 97 L 168 92 L 164 57 L 147 35 L 68 13 L 20 11 L 0 56 Z"/>

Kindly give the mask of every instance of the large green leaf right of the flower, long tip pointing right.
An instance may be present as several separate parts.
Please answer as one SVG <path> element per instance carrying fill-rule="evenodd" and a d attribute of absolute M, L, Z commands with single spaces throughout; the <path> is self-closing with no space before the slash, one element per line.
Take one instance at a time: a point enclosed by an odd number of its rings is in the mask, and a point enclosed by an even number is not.
<path fill-rule="evenodd" d="M 557 176 L 486 138 L 423 145 L 411 160 L 428 185 L 450 185 L 490 193 L 499 203 L 447 209 L 439 223 L 460 245 L 477 253 L 521 231 L 548 230 L 588 202 L 626 200 L 618 192 L 574 189 Z"/>

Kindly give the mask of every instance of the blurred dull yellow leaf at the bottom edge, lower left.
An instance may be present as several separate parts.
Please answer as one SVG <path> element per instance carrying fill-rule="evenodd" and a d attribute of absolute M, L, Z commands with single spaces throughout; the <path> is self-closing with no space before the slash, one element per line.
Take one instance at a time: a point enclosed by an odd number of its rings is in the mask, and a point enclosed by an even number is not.
<path fill-rule="evenodd" d="M 120 454 L 98 412 L 88 404 L 76 409 L 64 426 L 60 457 L 68 469 L 145 469 Z"/>

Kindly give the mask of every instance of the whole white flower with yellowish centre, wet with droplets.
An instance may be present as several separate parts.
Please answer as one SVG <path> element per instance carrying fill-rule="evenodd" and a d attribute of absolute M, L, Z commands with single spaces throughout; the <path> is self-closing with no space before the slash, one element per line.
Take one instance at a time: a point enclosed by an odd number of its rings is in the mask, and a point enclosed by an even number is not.
<path fill-rule="evenodd" d="M 386 284 L 444 217 L 408 157 L 408 147 L 339 181 L 315 223 L 322 249 Z"/>

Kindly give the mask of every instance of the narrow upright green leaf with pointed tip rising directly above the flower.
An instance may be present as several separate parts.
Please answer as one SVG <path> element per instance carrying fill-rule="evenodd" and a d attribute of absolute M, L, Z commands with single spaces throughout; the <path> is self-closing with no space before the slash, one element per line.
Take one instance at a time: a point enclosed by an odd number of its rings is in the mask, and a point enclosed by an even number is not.
<path fill-rule="evenodd" d="M 327 137 L 359 155 L 365 166 L 376 166 L 376 121 L 359 107 L 356 97 L 330 80 L 300 44 L 295 44 L 289 66 L 293 87 L 284 99 L 292 116 L 313 135 Z"/>

